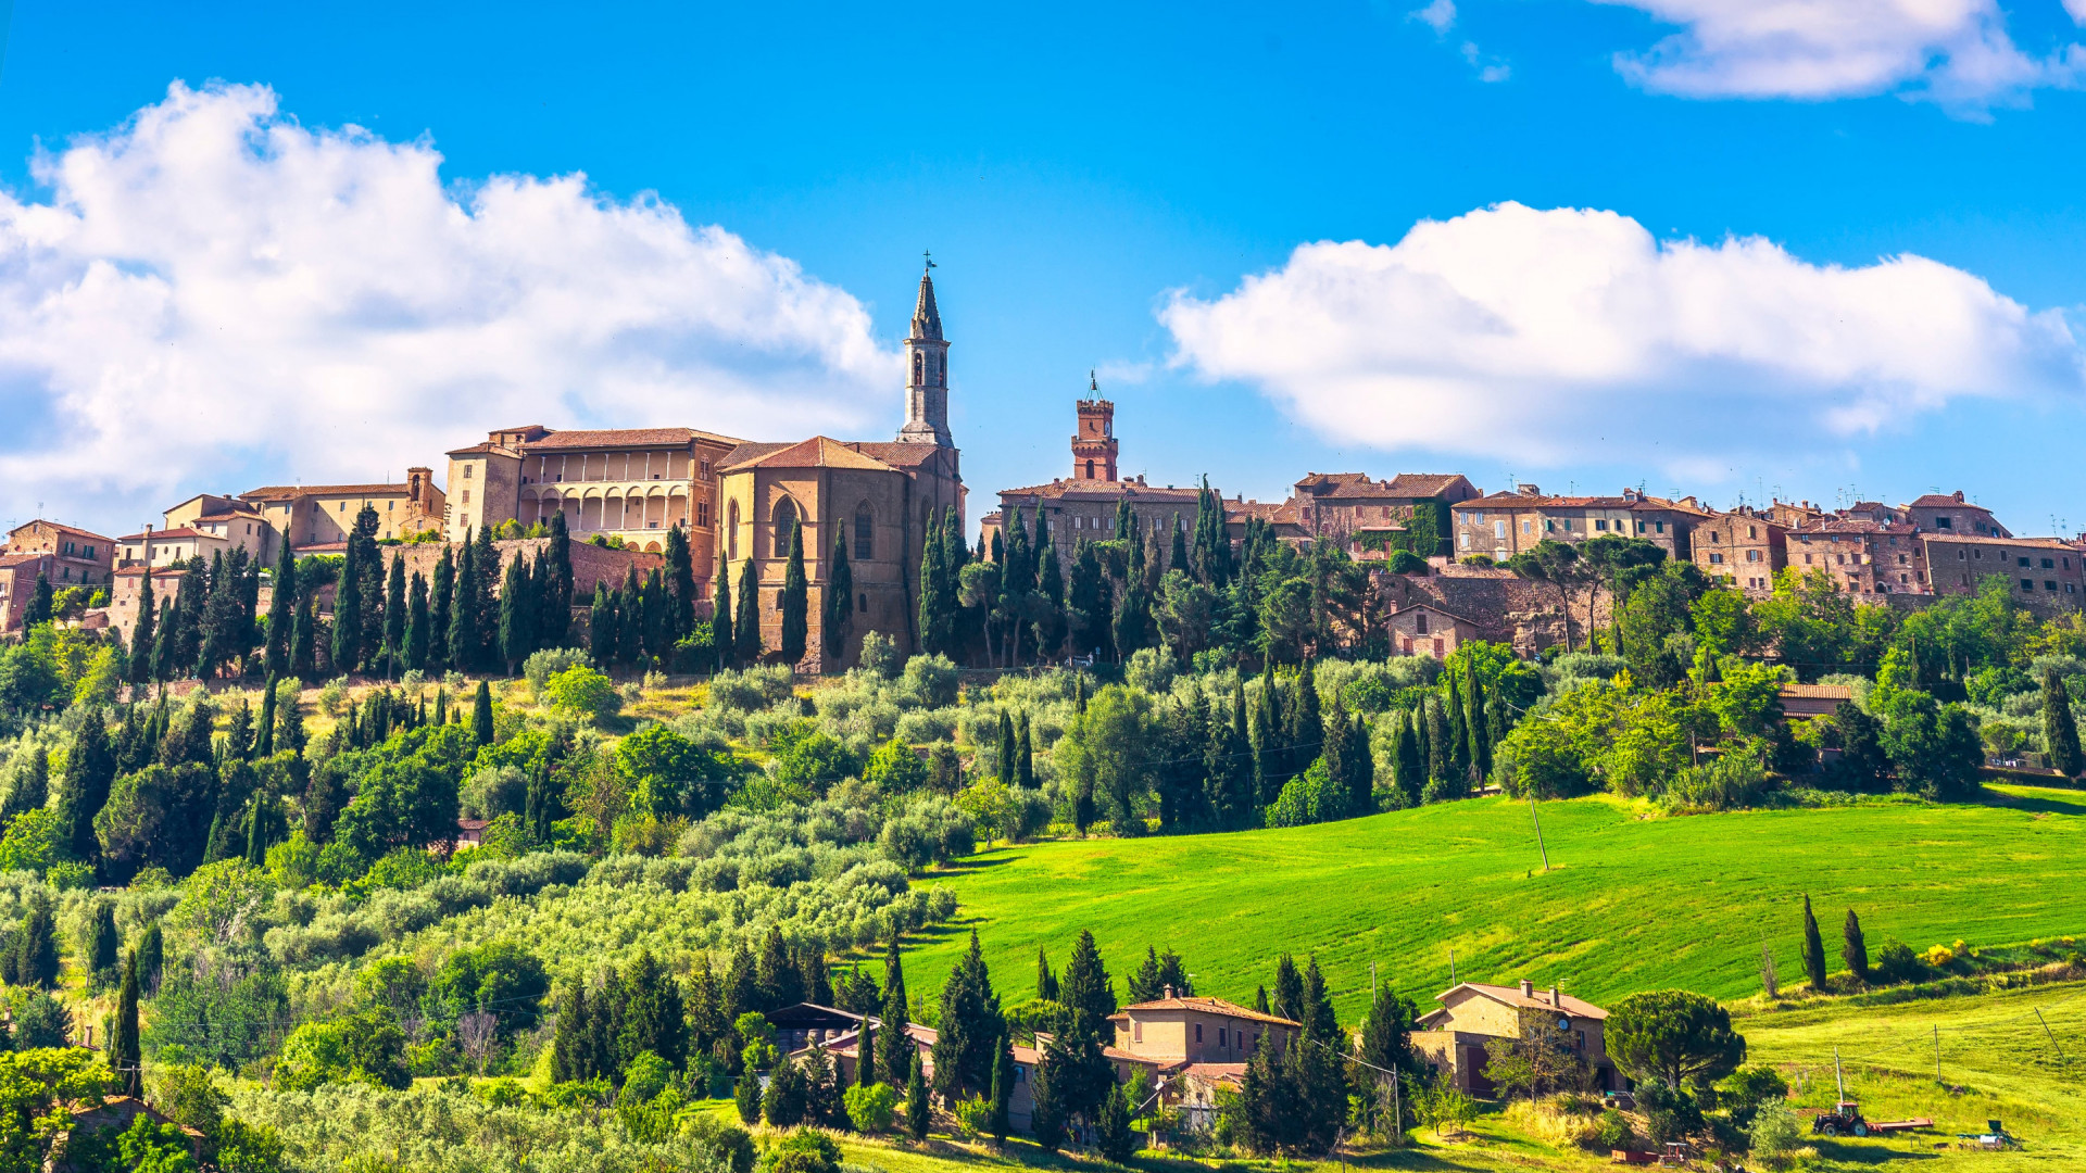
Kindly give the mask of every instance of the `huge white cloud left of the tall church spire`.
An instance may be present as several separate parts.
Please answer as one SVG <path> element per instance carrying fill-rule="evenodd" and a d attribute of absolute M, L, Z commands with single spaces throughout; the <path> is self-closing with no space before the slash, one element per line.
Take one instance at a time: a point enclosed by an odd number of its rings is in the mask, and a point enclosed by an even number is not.
<path fill-rule="evenodd" d="M 426 142 L 175 83 L 0 192 L 0 478 L 129 526 L 248 480 L 396 478 L 511 424 L 791 436 L 897 405 L 868 311 L 584 175 L 440 177 Z M 19 497 L 17 497 L 19 495 Z M 127 530 L 125 530 L 127 532 Z"/>

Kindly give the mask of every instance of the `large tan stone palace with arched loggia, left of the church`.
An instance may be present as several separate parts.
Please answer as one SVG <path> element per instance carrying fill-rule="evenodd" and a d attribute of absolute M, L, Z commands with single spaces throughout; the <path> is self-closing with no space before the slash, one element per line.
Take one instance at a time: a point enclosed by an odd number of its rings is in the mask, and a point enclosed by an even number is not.
<path fill-rule="evenodd" d="M 501 428 L 448 453 L 444 532 L 463 541 L 467 530 L 501 522 L 528 528 L 563 511 L 576 541 L 615 536 L 655 553 L 665 549 L 668 530 L 684 530 L 695 564 L 709 566 L 718 465 L 743 442 L 697 428 Z"/>

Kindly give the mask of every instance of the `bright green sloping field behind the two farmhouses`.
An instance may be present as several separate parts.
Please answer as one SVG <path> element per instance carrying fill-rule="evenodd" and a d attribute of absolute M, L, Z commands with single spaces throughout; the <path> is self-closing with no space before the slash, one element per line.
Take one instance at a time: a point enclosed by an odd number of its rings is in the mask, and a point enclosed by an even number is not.
<path fill-rule="evenodd" d="M 1343 1021 L 1360 1016 L 1373 962 L 1425 1004 L 1448 987 L 1450 950 L 1466 981 L 1731 1000 L 1758 991 L 1763 937 L 1784 981 L 1800 979 L 1804 893 L 1836 966 L 1848 906 L 1871 952 L 1890 937 L 1921 950 L 2086 935 L 2082 816 L 2086 795 L 2034 787 L 1975 806 L 1692 818 L 1587 797 L 1542 806 L 1548 875 L 1529 808 L 1512 799 L 1289 831 L 1037 843 L 949 872 L 957 929 L 918 950 L 920 977 L 907 977 L 935 989 L 976 927 L 999 989 L 1024 998 L 1037 948 L 1062 964 L 1091 929 L 1118 977 L 1147 943 L 1172 945 L 1197 991 L 1237 1000 L 1272 981 L 1277 952 L 1316 952 Z"/>

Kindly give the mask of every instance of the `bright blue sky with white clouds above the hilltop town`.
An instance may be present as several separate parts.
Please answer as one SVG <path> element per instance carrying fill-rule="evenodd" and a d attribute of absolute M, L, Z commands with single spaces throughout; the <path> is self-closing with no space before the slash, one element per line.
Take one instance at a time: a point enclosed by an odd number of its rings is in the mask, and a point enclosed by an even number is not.
<path fill-rule="evenodd" d="M 35 426 L 0 436 L 0 520 L 48 499 L 46 513 L 129 532 L 194 490 L 440 468 L 442 449 L 513 413 L 880 436 L 899 413 L 889 355 L 932 248 L 972 516 L 995 488 L 1066 470 L 1070 401 L 1099 367 L 1122 465 L 1154 482 L 1210 474 L 1270 499 L 1312 470 L 1456 470 L 1487 488 L 1510 474 L 1646 482 L 1719 505 L 1775 486 L 1827 503 L 1961 486 L 2017 532 L 2078 532 L 2086 56 L 2069 46 L 2086 29 L 2059 0 L 1950 4 L 1952 25 L 1915 27 L 1888 0 L 1806 0 L 1796 27 L 1758 29 L 1736 0 L 432 17 L 15 0 L 0 411 Z M 1850 13 L 1863 31 L 1846 33 Z M 175 81 L 204 106 L 223 94 L 213 81 L 265 88 L 271 100 L 242 98 L 234 117 L 248 127 L 367 136 L 342 148 L 357 157 L 346 177 L 325 169 L 323 142 L 302 179 L 267 150 L 167 167 L 200 148 L 125 127 L 165 111 Z M 129 169 L 108 179 L 121 169 L 79 157 L 67 188 L 54 167 L 79 136 Z M 494 338 L 538 338 L 542 353 L 507 363 L 457 326 L 507 313 L 501 296 L 471 303 L 486 282 L 444 290 L 440 309 L 371 294 L 259 326 L 267 313 L 217 288 L 252 267 L 194 261 L 215 240 L 269 265 L 302 259 L 328 288 L 375 280 L 342 269 L 382 232 L 382 207 L 328 221 L 311 175 L 375 190 L 355 169 L 415 144 L 440 157 L 459 209 L 492 177 L 584 173 L 572 207 L 642 219 L 657 198 L 690 234 L 730 238 L 632 259 L 657 223 L 617 238 L 551 207 L 515 213 L 511 232 L 476 209 L 480 238 L 451 242 L 463 259 L 392 240 L 390 271 L 507 271 L 515 248 L 536 280 L 672 303 L 599 328 L 580 319 L 609 294 L 538 305 Z M 240 182 L 215 184 L 227 173 Z M 273 202 L 296 232 L 248 238 L 275 217 L 240 200 Z M 90 209 L 60 246 L 27 215 L 50 207 Z M 442 232 L 438 215 L 421 221 Z M 1400 244 L 1421 221 L 1448 225 L 1425 255 Z M 532 234 L 559 255 L 534 257 L 517 242 Z M 1740 255 L 1733 238 L 1769 253 Z M 1314 242 L 1383 248 L 1297 253 Z M 753 278 L 732 269 L 747 250 L 763 265 Z M 1907 255 L 1925 261 L 1879 265 Z M 142 286 L 40 309 L 92 286 L 96 261 Z M 1542 276 L 1558 265 L 1571 273 Z M 1621 292 L 1585 286 L 1615 271 Z M 1250 292 L 1258 276 L 1270 280 Z M 252 334 L 213 342 L 225 328 L 196 305 Z M 355 342 L 313 349 L 342 315 Z M 457 317 L 430 328 L 440 315 Z M 127 326 L 102 336 L 111 321 Z M 430 355 L 440 380 L 413 382 Z M 474 355 L 490 355 L 484 372 Z M 617 372 L 603 388 L 588 386 L 597 365 Z M 355 369 L 307 388 L 313 367 Z M 528 374 L 542 369 L 559 374 Z M 240 432 L 244 397 L 271 394 L 332 407 Z M 94 459 L 38 451 L 52 436 Z"/>

